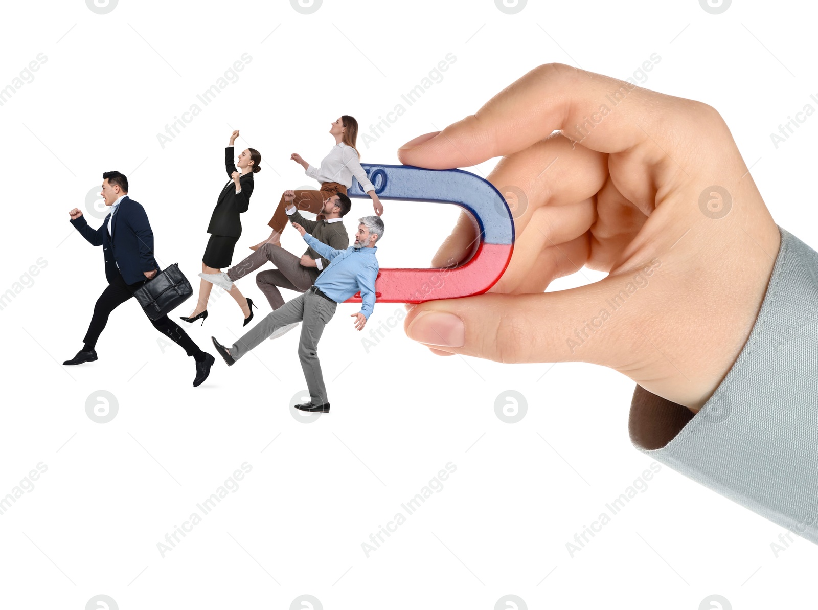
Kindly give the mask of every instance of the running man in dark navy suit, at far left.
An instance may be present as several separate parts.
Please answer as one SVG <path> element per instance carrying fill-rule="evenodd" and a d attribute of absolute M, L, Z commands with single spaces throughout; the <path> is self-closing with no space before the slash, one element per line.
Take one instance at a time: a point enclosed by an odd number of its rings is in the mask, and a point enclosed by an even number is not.
<path fill-rule="evenodd" d="M 69 215 L 71 224 L 80 235 L 83 235 L 91 245 L 102 246 L 108 287 L 97 299 L 91 324 L 83 339 L 85 343 L 83 349 L 71 360 L 63 362 L 64 365 L 79 365 L 97 360 L 94 348 L 102 330 L 105 329 L 110 312 L 133 297 L 136 289 L 159 272 L 153 255 L 151 223 L 148 222 L 142 205 L 128 197 L 128 178 L 119 172 L 103 173 L 102 178 L 101 195 L 106 205 L 111 208 L 102 226 L 96 230 L 88 227 L 83 213 L 78 208 L 72 209 Z M 188 356 L 196 360 L 196 379 L 193 380 L 193 385 L 197 386 L 205 381 L 210 374 L 210 366 L 213 366 L 213 356 L 202 352 L 187 333 L 168 316 L 151 320 L 151 324 L 156 330 L 168 335 L 187 352 Z"/>

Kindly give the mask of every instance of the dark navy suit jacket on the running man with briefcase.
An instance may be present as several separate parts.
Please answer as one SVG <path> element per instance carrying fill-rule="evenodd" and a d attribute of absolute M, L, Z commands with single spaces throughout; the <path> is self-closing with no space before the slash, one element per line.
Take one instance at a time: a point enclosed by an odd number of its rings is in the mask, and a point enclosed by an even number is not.
<path fill-rule="evenodd" d="M 98 229 L 88 227 L 85 217 L 80 216 L 70 221 L 74 229 L 88 240 L 91 245 L 101 245 L 105 256 L 105 276 L 110 284 L 122 273 L 125 284 L 136 284 L 146 280 L 143 271 L 159 269 L 153 255 L 153 231 L 148 216 L 141 204 L 124 197 L 119 202 L 119 209 L 114 214 L 114 224 L 111 230 L 113 237 L 108 235 L 110 213 L 102 221 Z M 119 271 L 116 265 L 119 263 Z"/>

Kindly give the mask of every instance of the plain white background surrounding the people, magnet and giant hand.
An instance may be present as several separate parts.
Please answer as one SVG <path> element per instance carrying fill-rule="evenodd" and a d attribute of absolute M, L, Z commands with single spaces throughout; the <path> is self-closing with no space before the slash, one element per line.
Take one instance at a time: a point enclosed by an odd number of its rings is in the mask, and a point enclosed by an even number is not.
<path fill-rule="evenodd" d="M 403 142 L 553 61 L 715 106 L 775 221 L 816 248 L 808 185 L 818 116 L 777 149 L 770 137 L 807 103 L 818 108 L 806 2 L 733 2 L 721 15 L 693 0 L 530 1 L 516 15 L 489 0 L 325 0 L 309 15 L 283 1 L 119 0 L 98 15 L 52 0 L 2 10 L 0 87 L 38 53 L 47 61 L 0 106 L 0 292 L 38 259 L 47 264 L 0 311 L 0 496 L 36 464 L 47 472 L 0 516 L 0 607 L 79 610 L 97 594 L 123 609 L 290 608 L 301 594 L 328 609 L 488 609 L 506 594 L 528 608 L 695 610 L 711 607 L 710 594 L 729 600 L 723 608 L 804 608 L 813 598 L 816 545 L 795 538 L 776 557 L 781 527 L 667 467 L 571 557 L 566 543 L 650 464 L 627 436 L 634 383 L 599 366 L 435 357 L 402 324 L 367 352 L 362 336 L 402 305 L 376 305 L 357 333 L 357 306 L 342 304 L 320 345 L 332 412 L 303 424 L 288 408 L 305 387 L 297 331 L 229 370 L 218 360 L 192 388 L 192 360 L 176 345 L 163 350 L 133 300 L 111 316 L 99 361 L 60 364 L 82 347 L 106 286 L 101 249 L 68 222 L 103 171 L 126 173 L 160 264 L 179 262 L 198 289 L 233 128 L 236 152 L 263 155 L 238 262 L 267 235 L 281 191 L 313 184 L 290 153 L 319 164 L 339 114 L 368 132 L 403 103 L 384 135 L 358 141 L 362 162 L 398 163 Z M 252 61 L 240 78 L 210 105 L 197 101 L 243 53 Z M 447 53 L 456 62 L 443 80 L 402 102 Z M 635 77 L 652 53 L 661 61 Z M 156 134 L 193 103 L 201 113 L 161 146 Z M 465 169 L 485 176 L 493 164 Z M 448 206 L 384 208 L 381 267 L 427 265 L 456 218 Z M 349 218 L 367 213 L 368 200 L 354 200 Z M 294 231 L 283 245 L 303 250 Z M 550 289 L 602 275 L 583 270 Z M 240 288 L 266 315 L 254 282 Z M 232 343 L 241 317 L 213 289 L 207 328 L 185 329 L 213 352 L 210 336 Z M 85 411 L 99 390 L 119 405 L 107 424 Z M 528 404 L 517 424 L 494 411 L 509 390 Z M 162 558 L 157 543 L 244 462 L 252 471 L 238 491 Z M 362 543 L 449 462 L 456 472 L 442 491 L 367 558 Z"/>

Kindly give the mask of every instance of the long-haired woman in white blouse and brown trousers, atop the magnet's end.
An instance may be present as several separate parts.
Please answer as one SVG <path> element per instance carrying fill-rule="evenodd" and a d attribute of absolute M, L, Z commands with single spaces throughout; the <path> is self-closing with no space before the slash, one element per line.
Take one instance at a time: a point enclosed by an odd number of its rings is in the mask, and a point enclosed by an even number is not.
<path fill-rule="evenodd" d="M 337 193 L 347 194 L 347 189 L 353 186 L 354 176 L 361 183 L 366 195 L 372 198 L 375 213 L 380 216 L 384 213 L 384 206 L 380 204 L 378 195 L 375 195 L 375 187 L 366 177 L 366 172 L 358 160 L 360 155 L 355 148 L 357 121 L 347 114 L 340 116 L 335 123 L 332 123 L 330 135 L 335 137 L 335 146 L 330 150 L 330 154 L 321 161 L 321 167 L 315 168 L 308 164 L 298 153 L 290 155 L 290 159 L 303 166 L 306 170 L 304 173 L 321 183 L 321 189 L 318 191 L 294 191 L 294 204 L 298 206 L 299 211 L 306 210 L 318 214 L 323 209 L 326 199 Z M 267 222 L 267 225 L 272 227 L 272 233 L 260 244 L 250 246 L 251 250 L 258 249 L 267 243 L 281 246 L 281 232 L 284 231 L 287 224 L 285 207 L 282 194 L 276 212 L 272 215 L 270 222 Z"/>

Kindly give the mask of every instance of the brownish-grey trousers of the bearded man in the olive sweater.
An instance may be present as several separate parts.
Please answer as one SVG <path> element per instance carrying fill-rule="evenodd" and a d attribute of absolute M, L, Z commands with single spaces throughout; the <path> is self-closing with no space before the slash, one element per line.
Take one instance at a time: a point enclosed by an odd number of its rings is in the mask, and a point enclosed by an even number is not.
<path fill-rule="evenodd" d="M 284 304 L 284 298 L 276 286 L 294 290 L 295 292 L 304 292 L 312 286 L 314 278 L 308 267 L 301 266 L 301 257 L 272 244 L 264 244 L 250 254 L 249 257 L 230 267 L 227 270 L 227 277 L 232 281 L 239 280 L 258 269 L 258 267 L 266 265 L 267 261 L 272 262 L 278 268 L 258 273 L 256 275 L 256 285 L 267 297 L 267 301 L 273 310 Z"/>

